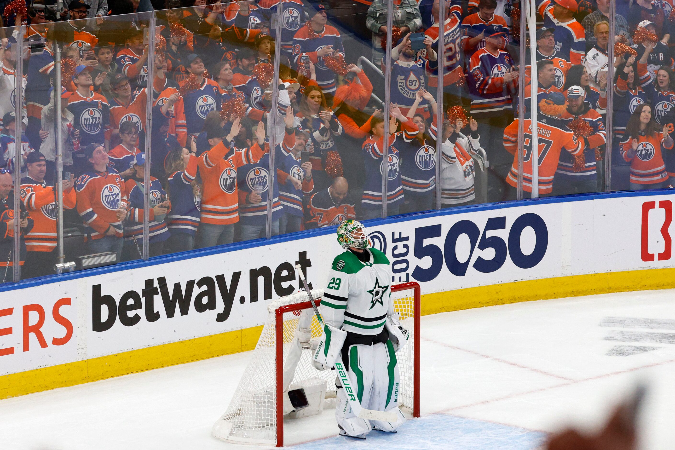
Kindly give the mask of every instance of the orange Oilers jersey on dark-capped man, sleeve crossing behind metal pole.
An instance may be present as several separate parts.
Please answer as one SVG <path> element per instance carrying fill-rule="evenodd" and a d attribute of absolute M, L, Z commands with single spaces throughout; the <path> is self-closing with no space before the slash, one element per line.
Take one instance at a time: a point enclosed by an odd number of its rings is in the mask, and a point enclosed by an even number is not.
<path fill-rule="evenodd" d="M 54 188 L 43 180 L 31 177 L 21 179 L 21 201 L 33 219 L 33 227 L 26 235 L 26 250 L 29 252 L 51 252 L 56 248 L 56 215 Z M 63 192 L 63 209 L 75 207 L 75 188 Z"/>

